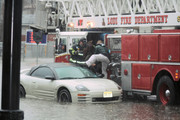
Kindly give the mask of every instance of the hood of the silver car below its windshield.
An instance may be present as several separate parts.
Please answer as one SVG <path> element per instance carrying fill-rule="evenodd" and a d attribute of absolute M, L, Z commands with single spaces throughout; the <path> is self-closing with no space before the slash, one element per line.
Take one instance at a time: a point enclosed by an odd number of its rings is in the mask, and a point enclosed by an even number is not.
<path fill-rule="evenodd" d="M 63 80 L 62 82 L 66 85 L 72 85 L 74 88 L 78 85 L 83 85 L 88 88 L 90 91 L 112 91 L 119 90 L 118 84 L 112 80 L 108 79 L 74 79 L 74 80 Z"/>

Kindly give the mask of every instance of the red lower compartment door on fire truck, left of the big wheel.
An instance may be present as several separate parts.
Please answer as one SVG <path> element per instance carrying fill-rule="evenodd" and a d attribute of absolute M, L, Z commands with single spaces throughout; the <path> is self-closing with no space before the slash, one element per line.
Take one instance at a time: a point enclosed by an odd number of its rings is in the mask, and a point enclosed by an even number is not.
<path fill-rule="evenodd" d="M 151 64 L 132 64 L 132 89 L 150 90 Z"/>

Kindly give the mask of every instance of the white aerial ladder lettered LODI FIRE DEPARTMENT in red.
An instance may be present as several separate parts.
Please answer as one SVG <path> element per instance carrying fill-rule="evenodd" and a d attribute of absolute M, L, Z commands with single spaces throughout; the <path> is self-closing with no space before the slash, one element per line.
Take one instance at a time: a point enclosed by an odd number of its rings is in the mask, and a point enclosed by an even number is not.
<path fill-rule="evenodd" d="M 34 26 L 44 30 L 179 26 L 179 6 L 179 0 L 37 0 Z"/>

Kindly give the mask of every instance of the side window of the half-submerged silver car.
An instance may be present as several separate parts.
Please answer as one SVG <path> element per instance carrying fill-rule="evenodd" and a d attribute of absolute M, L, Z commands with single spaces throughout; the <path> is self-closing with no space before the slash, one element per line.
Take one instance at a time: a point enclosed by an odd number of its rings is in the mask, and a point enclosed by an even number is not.
<path fill-rule="evenodd" d="M 36 69 L 31 74 L 31 76 L 39 77 L 39 78 L 45 78 L 46 76 L 54 77 L 53 72 L 47 67 L 40 67 L 40 68 Z"/>

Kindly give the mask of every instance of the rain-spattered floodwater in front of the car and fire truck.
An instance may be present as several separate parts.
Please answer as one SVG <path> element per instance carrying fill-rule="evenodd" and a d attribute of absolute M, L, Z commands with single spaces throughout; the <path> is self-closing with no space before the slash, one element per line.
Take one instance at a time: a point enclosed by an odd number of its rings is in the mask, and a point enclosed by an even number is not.
<path fill-rule="evenodd" d="M 115 104 L 66 104 L 56 101 L 21 99 L 25 120 L 179 120 L 180 106 L 154 102 Z"/>

